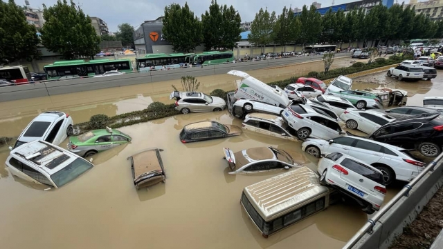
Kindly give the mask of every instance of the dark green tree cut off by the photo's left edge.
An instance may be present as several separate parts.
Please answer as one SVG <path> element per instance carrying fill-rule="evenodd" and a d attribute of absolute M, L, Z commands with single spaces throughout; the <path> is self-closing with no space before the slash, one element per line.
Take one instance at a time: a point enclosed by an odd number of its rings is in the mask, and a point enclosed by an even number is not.
<path fill-rule="evenodd" d="M 13 0 L 0 1 L 0 65 L 39 57 L 37 30 Z"/>

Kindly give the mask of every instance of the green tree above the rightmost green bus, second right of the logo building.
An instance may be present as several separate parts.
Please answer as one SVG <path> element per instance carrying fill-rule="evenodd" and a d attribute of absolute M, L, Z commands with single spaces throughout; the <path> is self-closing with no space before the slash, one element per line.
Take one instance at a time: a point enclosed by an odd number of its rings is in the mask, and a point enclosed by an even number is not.
<path fill-rule="evenodd" d="M 209 12 L 201 15 L 201 23 L 206 50 L 233 49 L 241 39 L 242 19 L 233 6 L 219 6 L 217 0 L 211 1 Z"/>

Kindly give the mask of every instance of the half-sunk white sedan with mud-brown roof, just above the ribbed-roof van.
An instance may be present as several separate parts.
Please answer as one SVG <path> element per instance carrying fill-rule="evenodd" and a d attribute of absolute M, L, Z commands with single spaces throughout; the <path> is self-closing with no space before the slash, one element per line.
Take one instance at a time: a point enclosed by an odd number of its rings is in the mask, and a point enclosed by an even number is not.
<path fill-rule="evenodd" d="M 223 152 L 223 158 L 231 170 L 228 174 L 289 170 L 298 166 L 286 151 L 272 146 L 249 148 L 235 153 L 229 148 L 223 148 Z"/>

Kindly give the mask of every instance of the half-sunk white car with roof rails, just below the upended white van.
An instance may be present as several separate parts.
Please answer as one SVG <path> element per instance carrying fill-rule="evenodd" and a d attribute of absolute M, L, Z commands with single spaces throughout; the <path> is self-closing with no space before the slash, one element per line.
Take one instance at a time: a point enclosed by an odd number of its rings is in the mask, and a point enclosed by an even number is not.
<path fill-rule="evenodd" d="M 289 127 L 282 117 L 271 114 L 247 114 L 242 123 L 242 128 L 271 137 L 299 141 L 295 137 L 296 131 Z"/>

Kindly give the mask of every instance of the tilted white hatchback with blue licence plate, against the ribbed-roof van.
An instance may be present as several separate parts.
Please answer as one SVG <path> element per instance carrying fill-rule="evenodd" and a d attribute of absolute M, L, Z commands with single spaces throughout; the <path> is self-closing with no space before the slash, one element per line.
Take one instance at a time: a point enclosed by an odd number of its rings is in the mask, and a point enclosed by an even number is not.
<path fill-rule="evenodd" d="M 383 173 L 349 155 L 334 152 L 318 161 L 320 184 L 329 185 L 356 200 L 371 215 L 380 209 L 386 195 Z"/>

